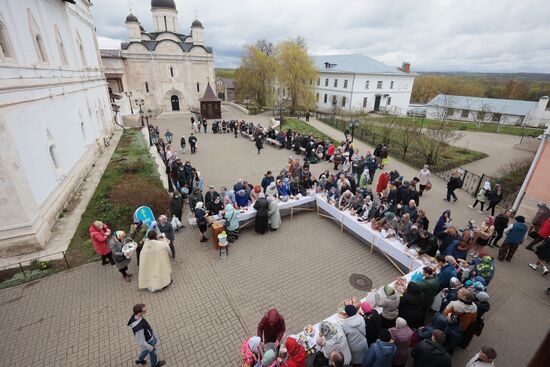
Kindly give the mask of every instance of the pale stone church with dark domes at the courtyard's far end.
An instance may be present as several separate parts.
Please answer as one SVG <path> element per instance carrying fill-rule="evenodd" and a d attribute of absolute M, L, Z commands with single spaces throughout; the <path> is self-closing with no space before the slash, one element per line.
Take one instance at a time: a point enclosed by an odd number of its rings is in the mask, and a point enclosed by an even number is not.
<path fill-rule="evenodd" d="M 155 113 L 198 111 L 209 82 L 215 80 L 214 53 L 195 19 L 189 34 L 179 31 L 174 0 L 151 0 L 153 31 L 138 17 L 126 17 L 128 40 L 119 50 L 101 50 L 109 92 L 121 113 L 139 108 Z M 142 106 L 136 103 L 143 100 Z"/>

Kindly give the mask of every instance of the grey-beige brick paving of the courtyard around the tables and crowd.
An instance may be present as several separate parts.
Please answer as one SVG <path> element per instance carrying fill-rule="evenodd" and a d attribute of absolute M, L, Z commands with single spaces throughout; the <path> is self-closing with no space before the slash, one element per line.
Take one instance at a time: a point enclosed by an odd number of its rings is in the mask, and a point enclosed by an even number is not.
<path fill-rule="evenodd" d="M 159 125 L 163 132 L 169 127 L 176 137 L 189 135 L 189 119 Z M 341 136 L 324 124 L 315 126 Z M 187 153 L 184 159 L 198 167 L 206 185 L 218 187 L 232 185 L 237 177 L 259 182 L 266 169 L 278 170 L 288 155 L 272 147 L 258 155 L 254 144 L 241 137 L 201 133 L 198 154 Z M 325 167 L 329 166 L 322 163 L 312 170 L 318 173 Z M 391 168 L 406 177 L 415 174 L 400 162 L 393 161 Z M 441 200 L 445 183 L 437 178 L 434 183 L 421 202 L 432 227 L 446 204 Z M 481 219 L 466 208 L 467 203 L 467 195 L 459 194 L 459 201 L 451 204 L 459 227 L 470 217 Z M 198 237 L 192 227 L 177 234 L 174 284 L 157 294 L 139 291 L 137 279 L 122 282 L 115 269 L 100 263 L 0 291 L 3 363 L 131 366 L 136 349 L 125 325 L 131 306 L 144 302 L 161 340 L 161 356 L 170 366 L 234 366 L 241 342 L 254 333 L 267 308 L 277 306 L 288 330 L 298 332 L 335 312 L 342 299 L 363 295 L 349 285 L 351 273 L 366 274 L 375 286 L 398 275 L 382 256 L 369 255 L 355 237 L 340 233 L 336 224 L 314 213 L 301 213 L 294 220 L 284 217 L 279 231 L 262 237 L 244 230 L 223 260 L 211 242 L 200 244 Z M 453 356 L 455 366 L 463 366 L 481 345 L 497 349 L 498 366 L 527 364 L 550 321 L 550 304 L 543 293 L 548 279 L 527 267 L 532 260 L 531 252 L 520 249 L 511 263 L 497 264 L 484 333 L 468 350 Z M 130 271 L 137 273 L 135 264 Z"/>

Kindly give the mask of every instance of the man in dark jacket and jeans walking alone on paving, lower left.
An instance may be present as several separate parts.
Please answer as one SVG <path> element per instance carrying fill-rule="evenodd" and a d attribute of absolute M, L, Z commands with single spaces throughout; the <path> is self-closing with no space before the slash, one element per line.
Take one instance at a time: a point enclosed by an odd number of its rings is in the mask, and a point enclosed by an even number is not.
<path fill-rule="evenodd" d="M 145 305 L 138 303 L 133 308 L 133 315 L 128 321 L 128 325 L 134 333 L 134 338 L 138 347 L 141 349 L 141 353 L 136 360 L 136 364 L 146 364 L 145 357 L 149 355 L 151 359 L 151 366 L 160 367 L 166 364 L 165 361 L 159 361 L 157 359 L 157 338 L 153 334 L 153 328 L 147 320 L 143 317 L 146 312 Z"/>

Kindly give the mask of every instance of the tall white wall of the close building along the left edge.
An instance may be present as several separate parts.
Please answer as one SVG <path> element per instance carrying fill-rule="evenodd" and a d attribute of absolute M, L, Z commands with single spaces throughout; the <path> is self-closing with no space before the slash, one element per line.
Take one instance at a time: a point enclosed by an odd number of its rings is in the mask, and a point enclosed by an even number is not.
<path fill-rule="evenodd" d="M 46 245 L 113 130 L 90 6 L 0 1 L 0 256 Z"/>

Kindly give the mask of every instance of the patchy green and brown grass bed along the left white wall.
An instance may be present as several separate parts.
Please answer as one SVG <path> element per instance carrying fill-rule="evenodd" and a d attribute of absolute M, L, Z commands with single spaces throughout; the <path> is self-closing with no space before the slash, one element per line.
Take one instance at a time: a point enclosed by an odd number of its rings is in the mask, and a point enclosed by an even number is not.
<path fill-rule="evenodd" d="M 113 233 L 128 232 L 138 206 L 148 205 L 158 215 L 168 209 L 168 203 L 145 138 L 138 129 L 124 130 L 69 244 L 69 263 L 73 266 L 99 259 L 88 232 L 94 221 L 106 223 Z"/>

